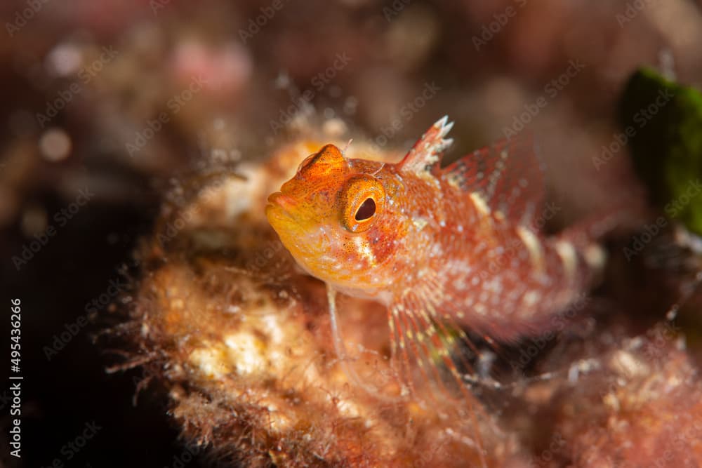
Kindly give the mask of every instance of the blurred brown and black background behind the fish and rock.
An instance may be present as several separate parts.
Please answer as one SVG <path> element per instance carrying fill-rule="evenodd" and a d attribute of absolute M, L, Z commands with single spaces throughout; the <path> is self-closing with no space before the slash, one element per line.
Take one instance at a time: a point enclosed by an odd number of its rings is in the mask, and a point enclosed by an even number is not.
<path fill-rule="evenodd" d="M 645 201 L 611 150 L 628 76 L 649 65 L 702 85 L 691 0 L 27 0 L 0 14 L 0 287 L 7 313 L 22 300 L 27 467 L 204 465 L 165 399 L 134 405 L 139 372 L 107 373 L 115 351 L 93 343 L 129 301 L 131 254 L 174 180 L 310 133 L 407 148 L 449 114 L 449 159 L 537 135 L 568 222 Z"/>

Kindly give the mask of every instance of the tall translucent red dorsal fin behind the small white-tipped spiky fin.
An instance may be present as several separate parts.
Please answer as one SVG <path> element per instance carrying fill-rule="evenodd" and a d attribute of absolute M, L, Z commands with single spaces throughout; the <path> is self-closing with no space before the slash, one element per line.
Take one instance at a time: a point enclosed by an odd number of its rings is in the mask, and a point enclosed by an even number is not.
<path fill-rule="evenodd" d="M 480 196 L 491 211 L 502 213 L 510 222 L 535 229 L 544 180 L 531 134 L 477 149 L 447 166 L 442 176 Z"/>

